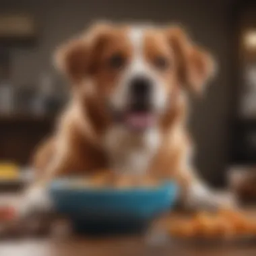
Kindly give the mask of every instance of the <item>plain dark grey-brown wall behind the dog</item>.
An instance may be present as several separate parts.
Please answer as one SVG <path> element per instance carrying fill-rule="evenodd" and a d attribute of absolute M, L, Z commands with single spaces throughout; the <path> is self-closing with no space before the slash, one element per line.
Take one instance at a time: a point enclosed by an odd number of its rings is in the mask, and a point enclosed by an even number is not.
<path fill-rule="evenodd" d="M 39 24 L 38 45 L 33 49 L 13 49 L 11 65 L 14 84 L 31 84 L 51 69 L 55 47 L 83 30 L 92 20 L 152 20 L 179 22 L 193 37 L 214 53 L 219 63 L 218 77 L 201 100 L 193 100 L 191 133 L 197 145 L 196 165 L 212 182 L 223 177 L 227 156 L 228 51 L 230 45 L 227 7 L 230 1 L 3 1 L 1 10 L 34 13 Z"/>

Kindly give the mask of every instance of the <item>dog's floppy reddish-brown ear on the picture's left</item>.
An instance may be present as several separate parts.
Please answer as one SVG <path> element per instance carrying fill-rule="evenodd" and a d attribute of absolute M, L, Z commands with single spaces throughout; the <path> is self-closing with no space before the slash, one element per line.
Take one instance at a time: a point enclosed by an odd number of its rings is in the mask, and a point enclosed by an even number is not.
<path fill-rule="evenodd" d="M 108 24 L 96 24 L 84 36 L 63 44 L 55 53 L 55 65 L 71 82 L 79 84 L 95 69 Z"/>

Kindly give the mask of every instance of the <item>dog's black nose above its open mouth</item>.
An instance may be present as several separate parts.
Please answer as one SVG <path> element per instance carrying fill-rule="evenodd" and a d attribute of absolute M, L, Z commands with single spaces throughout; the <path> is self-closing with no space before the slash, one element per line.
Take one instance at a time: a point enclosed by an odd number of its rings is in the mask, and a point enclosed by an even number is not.
<path fill-rule="evenodd" d="M 148 98 L 151 90 L 152 82 L 147 77 L 138 76 L 131 80 L 131 96 L 143 100 Z"/>

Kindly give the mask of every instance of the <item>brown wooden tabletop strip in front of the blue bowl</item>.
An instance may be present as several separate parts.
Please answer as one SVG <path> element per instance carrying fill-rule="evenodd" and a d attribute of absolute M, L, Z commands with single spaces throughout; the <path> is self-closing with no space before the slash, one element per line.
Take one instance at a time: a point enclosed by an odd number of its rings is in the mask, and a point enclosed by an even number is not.
<path fill-rule="evenodd" d="M 1 241 L 0 255 L 26 256 L 113 256 L 113 255 L 207 255 L 207 256 L 255 256 L 256 245 L 223 245 L 189 247 L 168 243 L 168 245 L 147 245 L 141 237 L 133 238 L 69 238 L 56 241 L 53 238 L 30 238 L 20 241 Z"/>

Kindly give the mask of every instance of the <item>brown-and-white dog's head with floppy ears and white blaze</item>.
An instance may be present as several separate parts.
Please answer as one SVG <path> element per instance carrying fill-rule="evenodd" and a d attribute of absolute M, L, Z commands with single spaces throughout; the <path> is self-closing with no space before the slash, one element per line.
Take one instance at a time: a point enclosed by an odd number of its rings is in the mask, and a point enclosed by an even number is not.
<path fill-rule="evenodd" d="M 199 92 L 214 73 L 212 57 L 177 27 L 98 24 L 57 51 L 75 90 L 90 79 L 113 120 L 144 131 L 158 123 L 177 92 Z"/>

